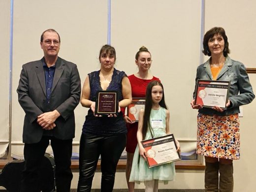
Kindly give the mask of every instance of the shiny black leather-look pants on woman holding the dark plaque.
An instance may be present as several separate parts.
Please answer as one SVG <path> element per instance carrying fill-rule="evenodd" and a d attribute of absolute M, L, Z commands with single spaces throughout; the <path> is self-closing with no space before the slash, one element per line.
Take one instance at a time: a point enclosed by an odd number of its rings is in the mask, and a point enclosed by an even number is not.
<path fill-rule="evenodd" d="M 101 192 L 112 192 L 117 163 L 126 146 L 126 133 L 109 136 L 83 134 L 79 150 L 77 192 L 90 192 L 99 155 L 101 157 Z"/>

